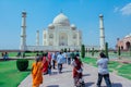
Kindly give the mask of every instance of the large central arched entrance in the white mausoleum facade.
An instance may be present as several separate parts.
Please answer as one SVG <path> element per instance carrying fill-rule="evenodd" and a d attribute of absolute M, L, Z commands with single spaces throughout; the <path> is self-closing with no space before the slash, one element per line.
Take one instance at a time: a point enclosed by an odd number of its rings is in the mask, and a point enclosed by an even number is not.
<path fill-rule="evenodd" d="M 59 34 L 59 46 L 68 46 L 68 35 L 66 33 Z"/>

